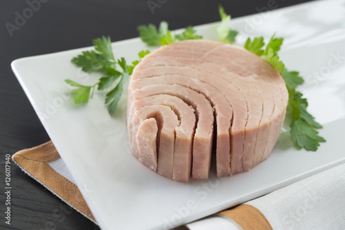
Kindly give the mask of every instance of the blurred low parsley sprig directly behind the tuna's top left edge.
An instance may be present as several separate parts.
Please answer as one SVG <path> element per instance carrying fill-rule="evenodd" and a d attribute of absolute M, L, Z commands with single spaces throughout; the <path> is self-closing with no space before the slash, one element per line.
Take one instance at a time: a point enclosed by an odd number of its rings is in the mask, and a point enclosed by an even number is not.
<path fill-rule="evenodd" d="M 202 36 L 197 35 L 192 26 L 186 27 L 181 34 L 173 36 L 171 31 L 168 30 L 166 21 L 161 21 L 158 29 L 153 24 L 139 25 L 137 29 L 141 40 L 150 46 L 169 45 L 175 41 L 202 39 Z"/>

